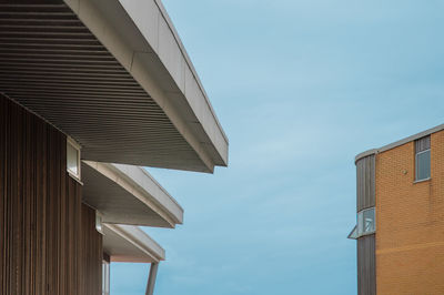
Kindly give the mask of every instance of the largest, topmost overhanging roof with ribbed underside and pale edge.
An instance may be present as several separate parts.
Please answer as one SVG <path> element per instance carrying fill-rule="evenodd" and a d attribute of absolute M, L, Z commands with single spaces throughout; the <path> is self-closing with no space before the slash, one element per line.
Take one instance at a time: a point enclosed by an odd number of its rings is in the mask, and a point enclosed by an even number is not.
<path fill-rule="evenodd" d="M 212 172 L 228 140 L 159 1 L 0 0 L 0 92 L 90 161 Z"/>

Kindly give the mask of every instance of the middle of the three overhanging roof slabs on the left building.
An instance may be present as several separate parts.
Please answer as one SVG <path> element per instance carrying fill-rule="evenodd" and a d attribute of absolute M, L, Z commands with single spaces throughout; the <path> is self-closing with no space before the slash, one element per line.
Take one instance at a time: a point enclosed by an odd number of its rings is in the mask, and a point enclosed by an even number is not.
<path fill-rule="evenodd" d="M 103 222 L 158 227 L 183 222 L 182 207 L 139 166 L 83 161 L 82 181 L 83 202 Z"/>

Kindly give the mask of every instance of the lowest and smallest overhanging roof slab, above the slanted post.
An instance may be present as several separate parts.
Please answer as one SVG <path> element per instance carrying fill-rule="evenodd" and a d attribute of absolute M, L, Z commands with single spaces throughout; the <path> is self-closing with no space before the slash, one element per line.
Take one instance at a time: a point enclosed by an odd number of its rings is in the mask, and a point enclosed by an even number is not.
<path fill-rule="evenodd" d="M 165 251 L 141 228 L 132 225 L 102 224 L 103 251 L 111 262 L 158 263 Z"/>

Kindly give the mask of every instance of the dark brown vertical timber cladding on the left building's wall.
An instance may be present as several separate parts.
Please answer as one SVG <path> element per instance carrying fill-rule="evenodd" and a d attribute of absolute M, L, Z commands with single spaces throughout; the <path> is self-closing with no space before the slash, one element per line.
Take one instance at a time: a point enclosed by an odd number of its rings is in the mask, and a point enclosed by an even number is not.
<path fill-rule="evenodd" d="M 0 94 L 0 294 L 101 294 L 102 237 L 63 133 Z"/>

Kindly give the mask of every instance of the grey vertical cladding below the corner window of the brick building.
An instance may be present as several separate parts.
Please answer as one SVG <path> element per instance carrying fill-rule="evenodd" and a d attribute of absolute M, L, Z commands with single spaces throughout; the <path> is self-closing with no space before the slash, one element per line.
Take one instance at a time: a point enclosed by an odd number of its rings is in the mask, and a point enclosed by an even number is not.
<path fill-rule="evenodd" d="M 357 240 L 357 294 L 376 294 L 375 235 Z"/>

